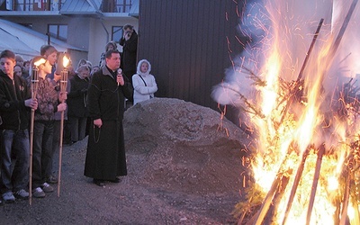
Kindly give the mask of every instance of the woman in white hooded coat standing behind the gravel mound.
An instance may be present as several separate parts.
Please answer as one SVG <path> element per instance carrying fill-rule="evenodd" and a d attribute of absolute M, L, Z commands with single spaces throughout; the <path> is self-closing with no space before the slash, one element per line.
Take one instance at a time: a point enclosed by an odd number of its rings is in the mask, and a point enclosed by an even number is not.
<path fill-rule="evenodd" d="M 136 103 L 151 99 L 157 92 L 157 82 L 155 77 L 150 74 L 151 65 L 147 59 L 142 59 L 138 63 L 137 73 L 132 76 L 134 87 L 134 105 Z"/>

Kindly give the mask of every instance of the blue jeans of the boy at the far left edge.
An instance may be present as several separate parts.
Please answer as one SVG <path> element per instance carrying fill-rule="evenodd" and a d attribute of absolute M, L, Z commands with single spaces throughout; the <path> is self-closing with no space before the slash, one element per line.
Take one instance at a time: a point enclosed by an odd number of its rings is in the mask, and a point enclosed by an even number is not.
<path fill-rule="evenodd" d="M 28 130 L 1 130 L 1 192 L 17 192 L 29 184 Z"/>

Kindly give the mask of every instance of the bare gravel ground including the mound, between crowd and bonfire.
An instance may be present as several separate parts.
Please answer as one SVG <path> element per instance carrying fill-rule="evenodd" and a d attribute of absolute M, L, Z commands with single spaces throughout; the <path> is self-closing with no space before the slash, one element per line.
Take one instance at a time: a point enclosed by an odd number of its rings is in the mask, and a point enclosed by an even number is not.
<path fill-rule="evenodd" d="M 120 184 L 102 188 L 83 175 L 86 138 L 63 148 L 60 196 L 4 204 L 2 223 L 236 223 L 248 142 L 238 127 L 209 108 L 152 99 L 125 112 L 124 128 L 129 175 Z"/>

